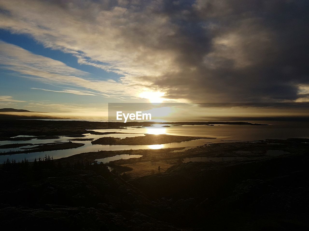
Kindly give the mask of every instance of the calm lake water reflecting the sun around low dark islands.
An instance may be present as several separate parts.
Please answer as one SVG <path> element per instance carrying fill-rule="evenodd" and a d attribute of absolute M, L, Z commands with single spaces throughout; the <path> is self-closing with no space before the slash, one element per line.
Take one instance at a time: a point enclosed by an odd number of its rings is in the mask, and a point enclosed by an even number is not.
<path fill-rule="evenodd" d="M 309 138 L 309 123 L 308 122 L 295 122 L 295 121 L 249 121 L 253 123 L 260 124 L 271 124 L 270 126 L 253 126 L 253 125 L 215 125 L 215 126 L 205 126 L 205 125 L 183 125 L 180 127 L 169 127 L 163 128 L 162 126 L 166 124 L 156 124 L 154 127 L 145 128 L 132 128 L 127 127 L 127 129 L 97 129 L 93 131 L 98 132 L 127 132 L 127 133 L 137 133 L 137 134 L 106 134 L 106 135 L 91 135 L 90 133 L 84 134 L 85 137 L 81 138 L 93 138 L 98 139 L 101 137 L 134 137 L 134 136 L 144 136 L 145 134 L 168 134 L 168 135 L 178 135 L 178 136 L 198 136 L 198 137 L 216 137 L 217 139 L 199 139 L 184 142 L 175 142 L 168 144 L 156 144 L 156 145 L 99 145 L 91 144 L 91 140 L 84 141 L 73 141 L 75 143 L 85 144 L 79 148 L 72 148 L 66 150 L 55 150 L 46 152 L 32 152 L 32 153 L 22 153 L 14 155 L 3 155 L 0 156 L 0 161 L 3 162 L 7 158 L 10 160 L 16 159 L 22 160 L 26 157 L 29 161 L 33 161 L 39 156 L 43 157 L 45 154 L 53 156 L 54 159 L 72 156 L 83 152 L 97 152 L 102 150 L 129 150 L 129 149 L 160 149 L 160 148 L 180 148 L 189 149 L 192 147 L 200 146 L 206 143 L 220 143 L 220 142 L 232 142 L 235 140 L 242 141 L 254 141 L 254 140 L 264 140 L 264 139 L 287 139 L 287 138 Z M 51 140 L 26 140 L 26 141 L 0 141 L 0 145 L 3 144 L 46 144 L 46 143 L 56 143 L 56 142 L 68 142 L 72 137 L 61 136 L 60 139 Z M 33 146 L 24 146 L 20 148 L 27 148 Z M 10 152 L 23 150 L 20 148 L 7 148 L 0 149 L 0 152 Z M 182 150 L 180 150 L 182 151 Z M 175 151 L 175 152 L 178 152 Z M 267 154 L 268 155 L 268 154 Z M 269 155 L 277 155 L 269 154 Z M 280 154 L 281 155 L 281 154 Z M 215 160 L 213 160 L 215 161 Z"/>

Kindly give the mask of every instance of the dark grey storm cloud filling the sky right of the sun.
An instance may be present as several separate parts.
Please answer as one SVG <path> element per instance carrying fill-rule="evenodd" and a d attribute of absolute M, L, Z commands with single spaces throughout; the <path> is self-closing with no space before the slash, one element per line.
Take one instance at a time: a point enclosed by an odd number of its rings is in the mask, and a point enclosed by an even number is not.
<path fill-rule="evenodd" d="M 162 41 L 162 46 L 180 51 L 181 67 L 154 81 L 167 88 L 167 98 L 183 94 L 210 102 L 295 100 L 298 84 L 308 84 L 308 1 L 165 6 L 161 13 L 179 30 L 174 45 Z"/>

